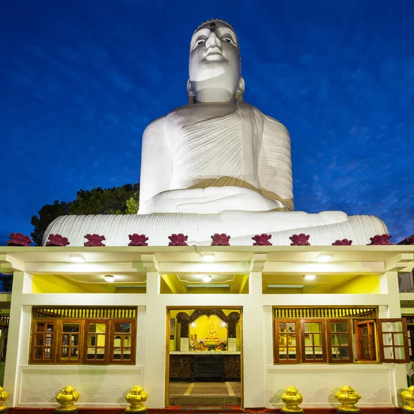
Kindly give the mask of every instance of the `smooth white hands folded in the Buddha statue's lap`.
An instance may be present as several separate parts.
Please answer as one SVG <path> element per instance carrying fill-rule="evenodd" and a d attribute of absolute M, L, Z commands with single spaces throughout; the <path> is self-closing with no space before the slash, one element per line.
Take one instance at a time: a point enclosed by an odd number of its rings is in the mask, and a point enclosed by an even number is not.
<path fill-rule="evenodd" d="M 283 207 L 282 202 L 268 199 L 250 188 L 228 186 L 164 191 L 140 206 L 139 213 L 213 214 L 226 210 L 269 211 Z"/>

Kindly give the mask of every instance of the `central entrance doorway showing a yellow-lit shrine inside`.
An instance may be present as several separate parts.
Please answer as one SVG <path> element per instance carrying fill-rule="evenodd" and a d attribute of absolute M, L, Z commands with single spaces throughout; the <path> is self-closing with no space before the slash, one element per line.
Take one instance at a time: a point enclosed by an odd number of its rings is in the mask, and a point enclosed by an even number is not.
<path fill-rule="evenodd" d="M 166 406 L 241 406 L 242 308 L 167 308 Z"/>

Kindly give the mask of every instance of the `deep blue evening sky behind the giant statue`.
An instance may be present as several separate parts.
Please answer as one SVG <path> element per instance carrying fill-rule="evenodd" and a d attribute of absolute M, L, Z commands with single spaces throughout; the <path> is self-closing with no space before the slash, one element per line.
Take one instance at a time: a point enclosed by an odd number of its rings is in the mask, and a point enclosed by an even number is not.
<path fill-rule="evenodd" d="M 244 100 L 282 121 L 295 209 L 414 233 L 411 0 L 14 0 L 0 5 L 0 240 L 43 204 L 139 181 L 141 135 L 186 103 L 199 23 L 235 28 Z"/>

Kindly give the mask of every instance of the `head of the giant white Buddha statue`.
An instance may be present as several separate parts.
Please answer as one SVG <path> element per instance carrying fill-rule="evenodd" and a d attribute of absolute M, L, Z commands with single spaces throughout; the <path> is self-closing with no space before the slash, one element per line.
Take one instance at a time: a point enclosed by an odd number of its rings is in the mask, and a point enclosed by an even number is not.
<path fill-rule="evenodd" d="M 244 92 L 237 35 L 226 21 L 206 21 L 190 43 L 187 89 L 199 102 L 229 102 Z"/>

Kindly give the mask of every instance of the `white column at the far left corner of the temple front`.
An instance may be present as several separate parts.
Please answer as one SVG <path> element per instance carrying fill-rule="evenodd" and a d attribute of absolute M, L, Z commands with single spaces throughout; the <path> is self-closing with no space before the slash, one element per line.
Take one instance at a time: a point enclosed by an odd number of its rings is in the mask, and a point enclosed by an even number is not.
<path fill-rule="evenodd" d="M 14 272 L 10 322 L 4 369 L 4 389 L 9 393 L 10 406 L 16 406 L 19 397 L 19 364 L 28 363 L 31 306 L 22 306 L 23 293 L 31 293 L 32 275 Z"/>

